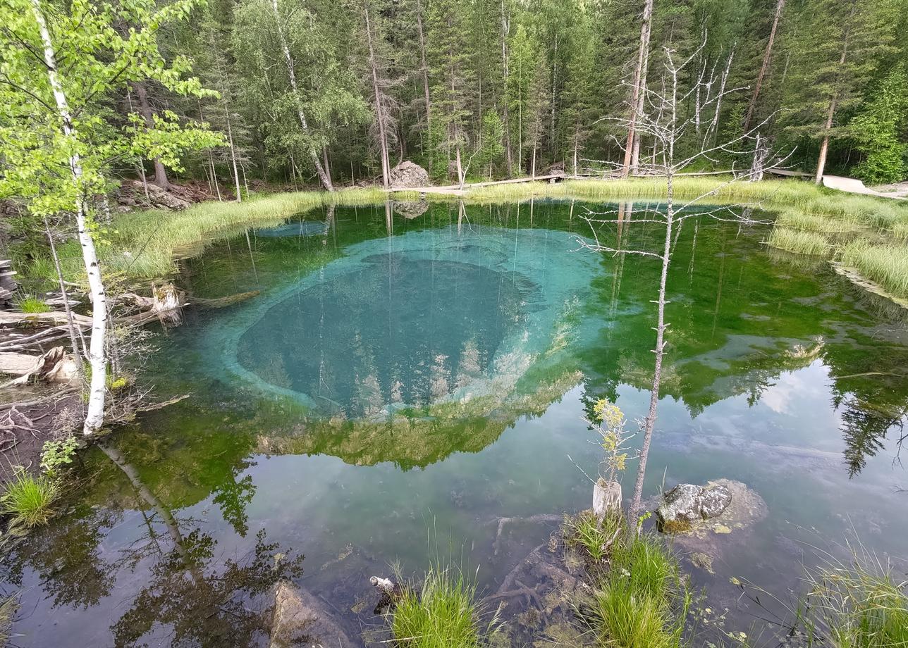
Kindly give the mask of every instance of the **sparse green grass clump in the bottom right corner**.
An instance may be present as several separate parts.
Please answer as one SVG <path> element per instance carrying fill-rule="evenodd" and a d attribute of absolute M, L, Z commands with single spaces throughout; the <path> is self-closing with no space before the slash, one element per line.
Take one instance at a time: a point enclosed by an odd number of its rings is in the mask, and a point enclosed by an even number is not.
<path fill-rule="evenodd" d="M 904 575 L 865 551 L 809 573 L 807 623 L 834 648 L 908 646 Z"/>

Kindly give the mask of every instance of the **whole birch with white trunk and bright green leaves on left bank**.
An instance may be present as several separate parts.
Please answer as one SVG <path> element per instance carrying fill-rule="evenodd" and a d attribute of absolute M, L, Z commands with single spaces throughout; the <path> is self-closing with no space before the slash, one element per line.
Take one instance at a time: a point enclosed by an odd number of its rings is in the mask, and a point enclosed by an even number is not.
<path fill-rule="evenodd" d="M 196 79 L 186 77 L 187 61 L 163 61 L 155 40 L 158 26 L 184 20 L 194 5 L 193 0 L 161 9 L 150 0 L 118 5 L 74 0 L 66 10 L 44 0 L 4 0 L 2 5 L 0 197 L 16 196 L 38 218 L 74 218 L 92 300 L 86 436 L 104 423 L 108 307 L 96 246 L 102 230 L 94 215 L 97 197 L 108 190 L 110 164 L 141 151 L 178 166 L 183 150 L 219 141 L 201 127 L 175 122 L 171 114 L 154 119 L 150 127 L 128 123 L 112 131 L 99 113 L 109 94 L 125 93 L 126 84 L 149 78 L 176 93 L 206 93 Z M 117 27 L 125 23 L 133 29 L 121 34 Z"/>

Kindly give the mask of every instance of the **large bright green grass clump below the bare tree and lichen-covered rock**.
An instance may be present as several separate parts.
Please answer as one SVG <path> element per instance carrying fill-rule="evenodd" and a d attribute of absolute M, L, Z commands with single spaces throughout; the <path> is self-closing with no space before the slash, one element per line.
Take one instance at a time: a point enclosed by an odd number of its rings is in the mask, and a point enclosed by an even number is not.
<path fill-rule="evenodd" d="M 655 535 L 623 535 L 593 594 L 598 646 L 677 648 L 691 597 L 676 558 Z"/>

